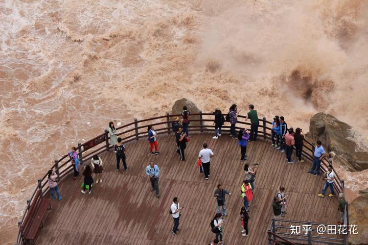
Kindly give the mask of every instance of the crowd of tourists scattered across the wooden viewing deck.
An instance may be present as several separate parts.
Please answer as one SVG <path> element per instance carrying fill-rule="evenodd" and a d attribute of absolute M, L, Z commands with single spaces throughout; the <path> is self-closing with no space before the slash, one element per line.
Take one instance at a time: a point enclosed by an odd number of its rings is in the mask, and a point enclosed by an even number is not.
<path fill-rule="evenodd" d="M 250 120 L 250 131 L 247 129 L 239 129 L 236 131 L 236 124 L 238 122 L 238 107 L 236 104 L 233 104 L 228 113 L 224 116 L 219 107 L 215 108 L 214 111 L 214 122 L 215 125 L 215 135 L 213 139 L 218 139 L 221 137 L 221 129 L 224 123 L 227 121 L 230 123 L 230 137 L 233 139 L 238 139 L 238 145 L 240 149 L 240 160 L 244 163 L 244 172 L 245 177 L 240 186 L 241 197 L 243 201 L 243 206 L 240 209 L 239 220 L 241 223 L 242 230 L 240 231 L 242 236 L 248 236 L 248 222 L 250 220 L 250 202 L 254 198 L 255 192 L 255 181 L 257 176 L 257 171 L 259 164 L 253 163 L 251 166 L 247 163 L 247 145 L 249 141 L 257 141 L 258 136 L 258 127 L 259 127 L 259 119 L 257 111 L 255 110 L 254 105 L 249 105 L 249 111 L 247 113 L 247 119 Z M 190 125 L 190 115 L 191 113 L 188 111 L 186 106 L 183 107 L 183 111 L 181 112 L 180 117 L 175 117 L 172 122 L 172 131 L 175 133 L 175 145 L 176 145 L 176 153 L 179 155 L 180 161 L 186 161 L 185 150 L 186 145 L 191 140 L 191 135 L 189 134 L 189 125 Z M 110 135 L 110 146 L 113 148 L 114 153 L 116 154 L 116 171 L 120 171 L 120 162 L 123 163 L 124 170 L 127 171 L 129 169 L 126 163 L 126 148 L 122 143 L 122 138 L 118 137 L 117 130 L 114 127 L 113 122 L 109 122 L 108 132 Z M 148 141 L 149 141 L 149 155 L 159 155 L 158 151 L 158 141 L 157 135 L 158 132 L 155 131 L 154 126 L 148 126 L 147 129 Z M 301 128 L 296 128 L 295 131 L 292 127 L 288 128 L 288 125 L 285 121 L 284 116 L 274 116 L 272 121 L 272 131 L 271 131 L 271 147 L 279 150 L 281 153 L 286 153 L 286 161 L 289 164 L 294 164 L 295 161 L 298 163 L 303 163 L 302 159 L 302 149 L 303 149 L 303 140 L 304 134 Z M 292 152 L 295 148 L 296 159 L 292 159 Z M 154 151 L 153 151 L 154 149 Z M 68 153 L 70 156 L 71 162 L 73 164 L 74 169 L 74 180 L 79 176 L 79 156 L 76 148 L 72 148 L 72 150 Z M 198 154 L 198 167 L 200 169 L 200 173 L 203 173 L 204 179 L 209 180 L 211 173 L 211 159 L 215 156 L 214 152 L 209 149 L 208 143 L 203 143 L 203 149 L 199 151 Z M 321 144 L 321 141 L 317 140 L 314 153 L 313 153 L 313 164 L 311 169 L 308 171 L 308 174 L 313 176 L 318 176 L 320 174 L 320 163 L 321 160 L 326 156 L 326 152 Z M 91 189 L 94 183 L 102 183 L 102 173 L 103 173 L 103 161 L 98 155 L 94 155 L 91 158 L 91 163 L 86 164 L 83 167 L 83 183 L 81 186 L 81 192 L 83 194 L 88 191 L 91 194 Z M 151 184 L 151 191 L 155 191 L 156 197 L 159 198 L 159 174 L 160 169 L 158 165 L 155 164 L 153 160 L 149 162 L 149 165 L 145 168 L 145 173 L 148 176 Z M 94 179 L 95 178 L 95 179 Z M 49 170 L 48 174 L 49 179 L 49 187 L 51 189 L 52 199 L 55 199 L 54 192 L 56 192 L 58 200 L 61 200 L 61 196 L 59 193 L 59 189 L 57 187 L 57 175 Z M 325 174 L 326 180 L 323 190 L 318 194 L 318 197 L 325 197 L 326 191 L 330 188 L 331 193 L 329 197 L 333 197 L 335 195 L 334 191 L 334 171 L 332 165 L 328 166 L 328 171 Z M 96 182 L 95 182 L 96 180 Z M 221 184 L 217 185 L 217 188 L 214 191 L 214 197 L 216 199 L 216 213 L 214 217 L 211 219 L 210 227 L 211 231 L 215 234 L 215 239 L 210 244 L 223 244 L 223 229 L 222 226 L 226 222 L 226 195 L 231 196 L 232 193 L 225 188 L 222 187 Z M 280 222 L 278 220 L 281 217 L 284 217 L 287 214 L 287 197 L 286 188 L 284 186 L 280 186 L 278 193 L 275 193 L 272 202 L 272 210 L 273 217 L 277 219 L 275 223 L 276 226 L 280 226 Z M 345 201 L 343 194 L 339 194 L 339 206 L 338 210 L 340 211 L 340 220 L 339 224 L 343 223 L 344 218 L 344 206 Z M 179 231 L 179 219 L 180 212 L 184 207 L 179 204 L 179 200 L 177 197 L 173 198 L 173 202 L 170 206 L 169 213 L 172 215 L 174 220 L 174 226 L 172 229 L 172 234 L 177 235 Z"/>

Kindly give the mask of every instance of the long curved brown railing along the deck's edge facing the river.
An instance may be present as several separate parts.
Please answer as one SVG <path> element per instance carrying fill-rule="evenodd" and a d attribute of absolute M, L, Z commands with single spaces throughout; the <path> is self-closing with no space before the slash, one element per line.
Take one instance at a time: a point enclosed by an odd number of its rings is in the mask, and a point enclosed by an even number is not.
<path fill-rule="evenodd" d="M 222 115 L 226 115 L 225 113 L 223 113 Z M 169 113 L 166 113 L 166 115 L 164 116 L 156 116 L 156 117 L 151 117 L 151 118 L 147 118 L 147 119 L 142 119 L 142 120 L 136 120 L 134 119 L 133 122 L 130 122 L 129 124 L 125 124 L 123 126 L 120 126 L 118 128 L 116 128 L 116 130 L 122 130 L 122 129 L 126 129 L 130 126 L 133 126 L 134 125 L 134 128 L 132 129 L 129 129 L 127 131 L 123 131 L 121 133 L 119 133 L 118 135 L 125 135 L 125 134 L 128 134 L 128 133 L 131 133 L 131 132 L 134 132 L 133 134 L 130 134 L 128 135 L 127 137 L 123 138 L 123 143 L 128 143 L 132 140 L 138 140 L 139 138 L 142 138 L 142 137 L 146 137 L 146 134 L 145 132 L 138 132 L 139 129 L 143 129 L 144 127 L 148 127 L 149 125 L 166 125 L 166 127 L 164 128 L 160 128 L 160 129 L 156 129 L 156 131 L 167 131 L 167 133 L 170 133 L 171 132 L 171 128 L 168 127 L 172 122 L 173 120 L 170 120 L 170 117 L 180 117 L 181 115 L 180 114 L 169 114 Z M 192 131 L 200 131 L 200 132 L 203 132 L 203 131 L 210 131 L 208 128 L 214 128 L 215 126 L 212 126 L 212 125 L 203 125 L 203 121 L 213 121 L 211 119 L 204 119 L 203 116 L 214 116 L 214 113 L 202 113 L 201 111 L 199 113 L 191 113 L 191 116 L 199 116 L 200 119 L 193 119 L 191 121 L 199 121 L 200 122 L 200 125 L 198 126 L 190 126 L 190 128 L 192 129 Z M 247 118 L 247 116 L 243 116 L 243 115 L 238 115 L 238 118 Z M 162 122 L 154 122 L 152 124 L 149 124 L 149 125 L 140 125 L 138 127 L 138 124 L 141 124 L 142 122 L 147 122 L 147 121 L 154 121 L 154 120 L 158 120 L 158 119 L 166 119 Z M 258 133 L 260 134 L 263 134 L 264 138 L 270 138 L 270 134 L 267 133 L 267 130 L 272 130 L 270 127 L 267 127 L 267 125 L 272 125 L 272 122 L 270 121 L 267 121 L 265 117 L 263 118 L 259 118 L 259 121 L 260 122 L 263 122 L 263 124 L 260 124 L 259 127 L 261 127 L 263 129 L 263 132 L 262 131 L 258 131 Z M 239 124 L 244 124 L 244 125 L 250 125 L 249 122 L 243 122 L 243 121 L 238 121 Z M 205 129 L 203 129 L 205 128 Z M 224 129 L 227 129 L 229 128 L 229 126 L 223 126 Z M 239 129 L 239 127 L 236 127 L 237 129 Z M 229 131 L 229 130 L 223 130 L 225 132 Z M 94 141 L 96 139 L 99 139 L 99 138 L 102 138 L 104 137 L 104 141 L 101 141 L 99 143 L 97 143 L 96 145 L 93 145 L 93 147 L 91 148 L 88 148 L 88 149 L 84 149 L 85 146 L 87 146 L 87 143 L 90 143 L 91 141 Z M 108 143 L 108 139 L 110 137 L 107 135 L 106 132 L 104 132 L 103 134 L 100 134 L 92 139 L 89 139 L 87 140 L 86 142 L 84 142 L 83 144 L 78 144 L 78 155 L 79 156 L 82 156 L 83 153 L 85 153 L 86 151 L 91 151 L 89 152 L 86 156 L 88 156 L 87 158 L 83 158 L 81 159 L 81 163 L 83 163 L 83 161 L 88 161 L 89 159 L 91 159 L 92 157 L 92 154 L 101 154 L 105 151 L 108 151 L 111 146 L 107 145 Z M 307 141 L 306 139 L 303 140 L 304 142 L 306 142 L 307 144 L 311 145 L 312 146 L 312 149 L 308 148 L 308 147 L 305 147 L 307 150 L 311 151 L 312 154 L 309 154 L 308 152 L 306 152 L 304 149 L 302 150 L 303 151 L 303 154 L 304 156 L 307 156 L 310 160 L 313 160 L 313 144 L 310 143 L 309 141 Z M 101 145 L 102 143 L 105 143 L 105 147 L 102 147 L 102 146 L 99 146 Z M 77 147 L 77 146 L 76 146 Z M 83 148 L 83 150 L 82 150 Z M 97 150 L 96 150 L 97 149 Z M 86 157 L 85 156 L 85 157 Z M 54 165 L 51 167 L 51 169 L 54 169 L 55 170 L 55 173 L 58 173 L 58 178 L 61 180 L 63 179 L 68 173 L 70 173 L 73 169 L 72 169 L 72 165 L 68 165 L 68 163 L 71 162 L 70 159 L 66 159 L 65 162 L 61 163 L 63 160 L 65 160 L 65 158 L 68 157 L 68 154 L 66 155 L 63 155 L 59 160 L 55 160 L 54 161 Z M 326 164 L 326 162 L 328 162 L 328 160 L 326 158 L 323 159 L 323 161 L 321 161 L 321 169 L 326 173 L 326 169 L 327 169 L 327 166 L 328 164 Z M 59 163 L 61 163 L 61 165 L 59 166 Z M 324 168 L 326 167 L 326 169 Z M 62 169 L 64 168 L 64 169 Z M 33 201 L 33 198 L 34 198 L 34 195 L 36 193 L 36 191 L 39 189 L 39 186 L 41 187 L 41 190 L 43 187 L 46 187 L 43 189 L 42 191 L 42 194 L 45 194 L 48 190 L 49 190 L 49 187 L 47 186 L 47 181 L 46 180 L 46 177 L 47 177 L 47 174 L 45 174 L 42 179 L 38 180 L 38 182 L 40 183 L 40 185 L 37 185 L 37 187 L 35 188 L 35 191 L 33 192 L 31 198 L 29 200 L 27 200 L 27 208 L 24 212 L 24 214 L 22 215 L 22 218 L 20 221 L 18 221 L 18 228 L 20 228 L 22 222 L 24 221 L 25 219 L 25 216 L 27 214 L 27 211 L 28 209 L 30 208 L 30 205 L 32 204 L 32 201 Z M 335 173 L 335 180 L 338 180 L 338 181 L 335 181 L 335 185 L 337 188 L 338 191 L 342 191 L 342 185 L 341 185 L 341 181 L 337 175 L 337 173 Z M 44 182 L 42 184 L 42 182 Z M 348 213 L 347 213 L 348 215 Z M 20 229 L 18 230 L 18 236 L 17 236 L 17 243 L 16 244 L 21 244 L 19 242 L 22 242 L 21 240 L 21 232 L 20 232 Z"/>

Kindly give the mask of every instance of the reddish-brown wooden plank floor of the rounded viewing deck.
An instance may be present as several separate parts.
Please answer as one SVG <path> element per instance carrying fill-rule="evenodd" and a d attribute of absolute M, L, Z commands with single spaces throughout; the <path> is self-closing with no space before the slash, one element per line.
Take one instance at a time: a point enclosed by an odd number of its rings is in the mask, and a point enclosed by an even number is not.
<path fill-rule="evenodd" d="M 307 175 L 311 162 L 288 164 L 285 154 L 271 148 L 269 140 L 260 139 L 249 142 L 247 149 L 248 163 L 257 162 L 260 167 L 250 204 L 249 236 L 241 236 L 240 186 L 244 171 L 238 140 L 227 134 L 218 140 L 212 136 L 193 134 L 187 144 L 186 162 L 180 162 L 175 153 L 173 134 L 159 136 L 162 154 L 158 156 L 148 155 L 147 140 L 130 142 L 126 145 L 129 170 L 120 173 L 116 171 L 115 155 L 104 153 L 103 183 L 94 184 L 90 195 L 80 192 L 81 176 L 77 181 L 69 176 L 60 183 L 63 199 L 52 202 L 36 244 L 207 244 L 215 237 L 210 221 L 216 211 L 213 192 L 219 183 L 233 193 L 226 199 L 226 244 L 267 244 L 272 198 L 280 185 L 289 194 L 286 219 L 337 222 L 337 199 L 317 197 L 324 181 L 321 176 Z M 215 154 L 210 180 L 204 180 L 196 166 L 204 142 Z M 159 199 L 150 191 L 145 174 L 150 159 L 160 168 Z M 169 207 L 173 197 L 178 197 L 185 207 L 177 236 L 171 234 L 173 219 Z"/>

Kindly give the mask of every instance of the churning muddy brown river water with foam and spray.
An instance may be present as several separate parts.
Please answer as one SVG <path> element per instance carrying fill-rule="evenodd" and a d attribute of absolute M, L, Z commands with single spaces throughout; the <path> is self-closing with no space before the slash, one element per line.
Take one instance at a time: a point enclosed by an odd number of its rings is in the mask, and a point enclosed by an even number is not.
<path fill-rule="evenodd" d="M 0 244 L 37 179 L 108 121 L 234 101 L 307 131 L 318 111 L 368 142 L 368 2 L 2 1 Z M 150 105 L 150 106 L 147 106 Z M 338 174 L 357 193 L 367 170 Z"/>

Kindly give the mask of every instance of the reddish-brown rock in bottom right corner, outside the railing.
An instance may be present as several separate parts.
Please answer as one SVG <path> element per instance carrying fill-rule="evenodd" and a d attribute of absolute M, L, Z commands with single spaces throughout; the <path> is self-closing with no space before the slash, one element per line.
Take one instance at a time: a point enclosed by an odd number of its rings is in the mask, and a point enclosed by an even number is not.
<path fill-rule="evenodd" d="M 357 235 L 349 235 L 352 245 L 368 245 L 368 197 L 358 197 L 349 205 L 349 224 L 357 225 Z"/>

